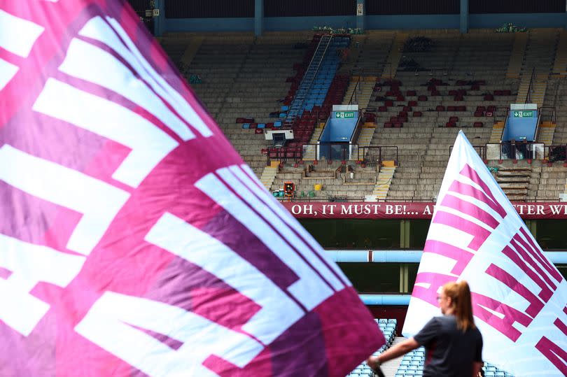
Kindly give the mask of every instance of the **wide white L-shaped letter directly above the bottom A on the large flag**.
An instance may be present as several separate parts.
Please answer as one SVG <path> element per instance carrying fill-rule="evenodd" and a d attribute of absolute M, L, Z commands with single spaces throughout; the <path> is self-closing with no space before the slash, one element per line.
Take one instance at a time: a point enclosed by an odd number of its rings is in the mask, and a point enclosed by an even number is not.
<path fill-rule="evenodd" d="M 200 266 L 262 306 L 242 329 L 264 344 L 272 343 L 304 315 L 293 299 L 246 259 L 171 213 L 158 220 L 146 241 Z"/>

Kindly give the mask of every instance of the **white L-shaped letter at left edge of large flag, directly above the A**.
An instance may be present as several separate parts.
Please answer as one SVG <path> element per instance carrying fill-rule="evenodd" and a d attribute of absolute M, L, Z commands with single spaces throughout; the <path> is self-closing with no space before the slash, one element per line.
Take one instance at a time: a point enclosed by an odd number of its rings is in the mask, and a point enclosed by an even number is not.
<path fill-rule="evenodd" d="M 8 144 L 0 148 L 0 180 L 59 206 L 83 213 L 67 248 L 89 255 L 130 194 L 73 169 L 28 155 Z"/>

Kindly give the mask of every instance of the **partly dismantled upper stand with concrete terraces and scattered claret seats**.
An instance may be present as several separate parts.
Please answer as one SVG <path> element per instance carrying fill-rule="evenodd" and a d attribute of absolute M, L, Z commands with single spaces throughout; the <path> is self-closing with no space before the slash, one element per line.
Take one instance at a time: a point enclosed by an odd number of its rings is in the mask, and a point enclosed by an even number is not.
<path fill-rule="evenodd" d="M 308 31 L 267 33 L 255 39 L 250 34 L 207 35 L 188 66 L 188 73 L 202 78 L 193 89 L 253 171 L 262 176 L 265 166 L 275 162 L 265 171 L 270 190 L 281 190 L 283 182 L 292 180 L 295 199 L 435 200 L 458 129 L 473 145 L 482 145 L 481 153 L 486 143 L 498 143 L 506 108 L 520 97 L 525 100 L 525 81 L 534 67 L 530 95 L 554 108 L 543 113 L 546 123 L 538 141 L 554 145 L 551 157 L 547 149 L 547 159 L 561 159 L 561 145 L 567 143 L 562 127 L 567 120 L 563 100 L 567 87 L 557 71 L 561 66 L 557 59 L 563 58 L 556 57 L 556 48 L 567 37 L 556 29 L 525 35 L 492 30 L 368 31 L 352 37 L 346 59 L 340 52 L 349 41 L 335 36 L 321 57 L 320 70 L 306 80 L 304 73 L 320 37 Z M 186 59 L 191 46 L 195 49 L 191 38 L 195 36 L 186 36 L 184 43 L 179 36 L 162 43 L 174 59 Z M 423 51 L 412 50 L 408 48 L 412 38 L 427 38 L 430 45 Z M 355 95 L 357 81 L 364 84 L 358 84 Z M 302 83 L 308 85 L 304 91 Z M 365 104 L 361 94 L 368 92 L 368 84 L 373 92 Z M 316 161 L 303 145 L 316 143 L 330 106 L 357 102 L 368 114 L 364 136 L 361 133 L 355 141 L 371 147 L 360 150 L 365 158 L 355 149 L 351 160 Z M 293 108 L 294 103 L 300 107 Z M 282 113 L 286 118 L 270 118 Z M 284 128 L 286 120 L 295 139 L 283 149 L 270 148 L 262 127 L 281 122 Z M 381 149 L 377 162 L 377 147 L 387 145 L 397 148 Z M 357 157 L 363 159 L 361 164 Z M 383 169 L 385 160 L 395 166 Z M 549 201 L 566 193 L 562 161 L 487 163 L 500 176 L 510 199 Z M 507 169 L 524 171 L 517 178 L 505 178 L 510 175 Z"/>

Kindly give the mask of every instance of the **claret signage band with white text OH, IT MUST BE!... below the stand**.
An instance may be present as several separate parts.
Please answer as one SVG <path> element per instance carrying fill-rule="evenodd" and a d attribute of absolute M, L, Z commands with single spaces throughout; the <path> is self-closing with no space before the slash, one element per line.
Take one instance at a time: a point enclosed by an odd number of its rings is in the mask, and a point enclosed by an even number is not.
<path fill-rule="evenodd" d="M 435 203 L 391 202 L 391 203 L 330 203 L 283 202 L 284 207 L 295 218 L 337 218 L 337 219 L 430 219 Z M 517 213 L 524 220 L 567 219 L 567 203 L 513 203 Z"/>

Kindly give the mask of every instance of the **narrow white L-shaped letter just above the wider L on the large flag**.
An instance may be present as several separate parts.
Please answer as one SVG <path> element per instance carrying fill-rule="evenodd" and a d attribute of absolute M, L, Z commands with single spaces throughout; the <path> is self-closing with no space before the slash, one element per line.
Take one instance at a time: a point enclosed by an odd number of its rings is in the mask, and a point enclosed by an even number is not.
<path fill-rule="evenodd" d="M 283 263 L 297 274 L 299 280 L 290 285 L 288 290 L 307 310 L 310 311 L 323 300 L 330 297 L 332 290 L 328 283 L 276 232 L 274 225 L 266 222 L 256 214 L 251 206 L 237 197 L 213 173 L 209 173 L 198 180 L 195 183 L 195 187 L 207 194 L 219 206 L 223 207 L 225 211 L 241 222 L 244 227 L 258 236 L 258 239 L 269 250 L 272 250 L 274 255 L 279 257 Z"/>

